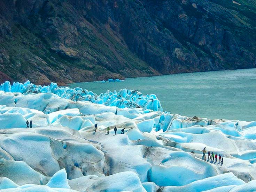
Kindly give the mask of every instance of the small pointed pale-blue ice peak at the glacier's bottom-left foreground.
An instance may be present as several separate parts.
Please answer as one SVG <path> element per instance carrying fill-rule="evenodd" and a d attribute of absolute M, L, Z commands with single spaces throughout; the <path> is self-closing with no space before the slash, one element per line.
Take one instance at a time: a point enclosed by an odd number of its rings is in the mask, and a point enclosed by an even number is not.
<path fill-rule="evenodd" d="M 46 185 L 52 188 L 70 189 L 65 169 L 56 172 Z"/>

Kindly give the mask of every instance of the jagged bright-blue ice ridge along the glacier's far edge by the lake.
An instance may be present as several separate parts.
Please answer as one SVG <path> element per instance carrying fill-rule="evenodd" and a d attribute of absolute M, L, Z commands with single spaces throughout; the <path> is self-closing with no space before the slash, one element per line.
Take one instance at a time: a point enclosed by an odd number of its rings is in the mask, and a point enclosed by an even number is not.
<path fill-rule="evenodd" d="M 153 111 L 163 111 L 160 101 L 155 94 L 143 96 L 138 90 L 121 89 L 118 92 L 107 91 L 97 95 L 92 91 L 76 87 L 58 87 L 56 83 L 49 86 L 41 86 L 31 84 L 26 81 L 24 84 L 14 82 L 13 85 L 9 81 L 4 82 L 0 86 L 0 90 L 12 93 L 22 93 L 24 95 L 37 93 L 53 93 L 61 98 L 71 99 L 72 101 L 90 101 L 92 103 L 104 104 L 107 106 L 125 107 L 141 107 Z"/>

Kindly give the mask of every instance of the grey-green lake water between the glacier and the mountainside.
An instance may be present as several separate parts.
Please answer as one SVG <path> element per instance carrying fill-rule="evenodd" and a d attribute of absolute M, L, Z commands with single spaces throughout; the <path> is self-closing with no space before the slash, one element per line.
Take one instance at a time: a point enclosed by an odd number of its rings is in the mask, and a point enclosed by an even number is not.
<path fill-rule="evenodd" d="M 85 82 L 69 85 L 92 90 L 138 89 L 155 94 L 164 111 L 209 119 L 256 120 L 256 69 L 183 73 L 127 78 L 123 82 Z"/>

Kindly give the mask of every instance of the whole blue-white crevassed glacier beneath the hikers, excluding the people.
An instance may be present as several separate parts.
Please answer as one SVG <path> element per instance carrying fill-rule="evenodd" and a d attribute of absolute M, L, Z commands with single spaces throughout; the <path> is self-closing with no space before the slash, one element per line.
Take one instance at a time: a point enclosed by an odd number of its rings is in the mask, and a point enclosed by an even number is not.
<path fill-rule="evenodd" d="M 255 163 L 256 121 L 171 114 L 127 89 L 0 86 L 0 192 L 256 191 Z"/>

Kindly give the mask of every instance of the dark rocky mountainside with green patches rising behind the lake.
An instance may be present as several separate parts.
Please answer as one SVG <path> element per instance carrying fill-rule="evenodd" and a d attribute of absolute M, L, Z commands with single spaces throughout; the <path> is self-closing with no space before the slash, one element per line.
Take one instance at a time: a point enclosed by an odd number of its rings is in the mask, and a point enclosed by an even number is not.
<path fill-rule="evenodd" d="M 254 68 L 255 18 L 248 0 L 1 0 L 0 80 Z"/>

